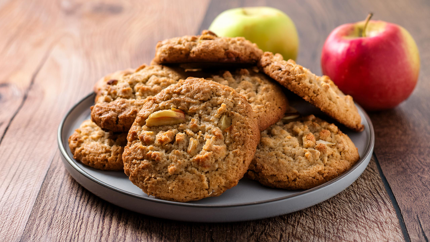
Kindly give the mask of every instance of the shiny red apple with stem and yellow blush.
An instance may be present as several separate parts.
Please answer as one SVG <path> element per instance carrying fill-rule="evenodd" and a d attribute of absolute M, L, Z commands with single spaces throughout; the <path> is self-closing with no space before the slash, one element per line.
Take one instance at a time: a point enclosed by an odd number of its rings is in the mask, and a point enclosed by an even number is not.
<path fill-rule="evenodd" d="M 411 95 L 420 56 L 408 31 L 369 21 L 371 16 L 335 28 L 322 48 L 321 66 L 324 75 L 366 110 L 383 110 Z"/>

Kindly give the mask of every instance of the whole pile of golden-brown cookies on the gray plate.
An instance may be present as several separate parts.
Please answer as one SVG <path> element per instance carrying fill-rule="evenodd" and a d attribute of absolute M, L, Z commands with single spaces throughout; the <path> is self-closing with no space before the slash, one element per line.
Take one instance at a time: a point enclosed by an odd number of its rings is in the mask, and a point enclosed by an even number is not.
<path fill-rule="evenodd" d="M 219 196 L 244 175 L 308 189 L 347 171 L 359 159 L 350 138 L 293 111 L 281 85 L 363 130 L 353 99 L 328 77 L 243 37 L 203 31 L 160 41 L 151 65 L 99 80 L 91 120 L 69 146 L 83 164 L 124 170 L 148 195 L 179 202 Z"/>

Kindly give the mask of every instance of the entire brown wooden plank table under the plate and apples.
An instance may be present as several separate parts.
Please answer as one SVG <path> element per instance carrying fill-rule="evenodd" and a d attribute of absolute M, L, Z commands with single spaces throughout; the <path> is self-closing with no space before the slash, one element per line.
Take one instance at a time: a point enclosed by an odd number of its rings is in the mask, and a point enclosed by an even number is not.
<path fill-rule="evenodd" d="M 329 32 L 375 19 L 402 25 L 421 51 L 419 83 L 393 110 L 369 113 L 375 153 L 337 196 L 241 223 L 168 221 L 89 193 L 62 165 L 56 130 L 104 74 L 148 63 L 158 40 L 196 34 L 221 11 L 269 5 L 300 35 L 298 63 L 321 74 Z M 414 1 L 0 1 L 0 238 L 3 241 L 429 241 L 430 3 Z"/>

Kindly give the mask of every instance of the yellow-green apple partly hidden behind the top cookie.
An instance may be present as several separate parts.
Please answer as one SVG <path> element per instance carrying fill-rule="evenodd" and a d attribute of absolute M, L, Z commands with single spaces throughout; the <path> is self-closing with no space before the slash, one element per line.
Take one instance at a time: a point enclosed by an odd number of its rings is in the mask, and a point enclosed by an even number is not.
<path fill-rule="evenodd" d="M 291 18 L 271 7 L 244 7 L 221 12 L 209 30 L 223 37 L 245 37 L 284 59 L 297 57 L 298 34 Z"/>

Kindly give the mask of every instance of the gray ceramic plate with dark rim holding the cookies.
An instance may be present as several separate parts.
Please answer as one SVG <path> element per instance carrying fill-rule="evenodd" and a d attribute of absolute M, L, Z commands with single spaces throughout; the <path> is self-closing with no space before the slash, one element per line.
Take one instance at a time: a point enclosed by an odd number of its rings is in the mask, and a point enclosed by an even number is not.
<path fill-rule="evenodd" d="M 369 116 L 357 106 L 365 130 L 354 133 L 343 126 L 340 128 L 352 139 L 362 158 L 340 177 L 312 189 L 295 191 L 263 187 L 258 182 L 243 178 L 236 187 L 218 197 L 186 203 L 170 202 L 147 196 L 123 172 L 99 171 L 73 159 L 68 148 L 68 137 L 84 120 L 89 119 L 89 107 L 94 97 L 90 94 L 72 107 L 58 127 L 58 146 L 64 165 L 77 182 L 101 199 L 154 217 L 194 222 L 232 222 L 273 217 L 310 207 L 350 186 L 368 165 L 375 142 Z M 292 106 L 303 114 L 314 113 L 325 118 L 301 99 L 293 101 Z"/>

